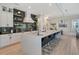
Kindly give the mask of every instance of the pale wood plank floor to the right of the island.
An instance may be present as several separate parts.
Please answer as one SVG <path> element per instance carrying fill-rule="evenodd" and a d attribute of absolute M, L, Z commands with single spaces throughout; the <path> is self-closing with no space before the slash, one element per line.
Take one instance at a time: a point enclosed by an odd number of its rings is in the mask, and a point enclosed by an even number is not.
<path fill-rule="evenodd" d="M 76 55 L 79 54 L 79 43 L 74 36 L 64 35 L 51 54 L 54 55 Z"/>

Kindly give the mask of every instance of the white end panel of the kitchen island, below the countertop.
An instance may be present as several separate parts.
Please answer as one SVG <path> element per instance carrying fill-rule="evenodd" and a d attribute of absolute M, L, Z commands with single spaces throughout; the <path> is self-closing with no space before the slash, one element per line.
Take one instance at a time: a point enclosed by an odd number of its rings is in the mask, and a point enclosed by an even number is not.
<path fill-rule="evenodd" d="M 41 55 L 41 39 L 39 37 L 23 36 L 21 40 L 24 55 Z"/>

